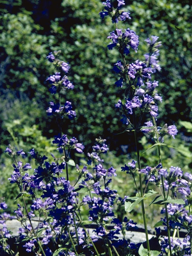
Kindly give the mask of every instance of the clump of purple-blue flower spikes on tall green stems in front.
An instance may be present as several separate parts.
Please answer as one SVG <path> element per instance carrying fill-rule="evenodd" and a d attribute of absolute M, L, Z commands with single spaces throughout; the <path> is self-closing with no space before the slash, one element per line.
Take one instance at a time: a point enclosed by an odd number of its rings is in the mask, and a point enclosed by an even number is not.
<path fill-rule="evenodd" d="M 18 209 L 14 211 L 15 218 L 21 223 L 14 243 L 6 228 L 6 220 L 11 217 L 6 212 L 0 214 L 1 255 L 23 255 L 21 247 L 26 255 L 39 256 L 191 255 L 192 174 L 183 174 L 179 167 L 173 166 L 167 170 L 163 168 L 161 159 L 162 147 L 168 146 L 164 142 L 166 136 L 174 138 L 178 133 L 175 125 L 157 126 L 157 102 L 162 102 L 162 97 L 156 89 L 158 81 L 152 78 L 156 70 L 161 70 L 158 64 L 161 42 L 158 42 L 158 36 L 147 38 L 148 53 L 144 54 L 143 60 L 127 63 L 126 56 L 131 50 L 137 51 L 139 38 L 130 28 L 118 28 L 119 21 L 130 19 L 130 13 L 122 9 L 124 4 L 124 0 L 106 0 L 100 16 L 110 16 L 115 25 L 115 30 L 108 36 L 112 41 L 108 49 L 117 48 L 120 54 L 121 59 L 114 64 L 113 71 L 118 74 L 116 86 L 124 90 L 124 99 L 118 100 L 115 108 L 122 114 L 126 131 L 134 134 L 137 153 L 137 160 L 130 160 L 121 169 L 132 176 L 137 193 L 121 198 L 111 188 L 112 178 L 117 174 L 113 166 L 107 167 L 104 163 L 104 154 L 108 151 L 105 139 L 96 139 L 92 152 L 88 153 L 87 165 L 80 167 L 72 160 L 72 152 L 82 154 L 84 145 L 62 131 L 65 118 L 72 120 L 76 117 L 72 102 L 66 100 L 67 91 L 74 88 L 66 75 L 70 65 L 60 60 L 60 51 L 50 52 L 47 60 L 54 65 L 55 74 L 50 75 L 47 81 L 51 84 L 49 90 L 55 95 L 56 102 L 50 102 L 46 112 L 55 116 L 55 124 L 58 125 L 59 134 L 53 144 L 56 144 L 60 155 L 56 158 L 52 154 L 54 162 L 48 162 L 45 155 L 30 150 L 30 158 L 36 162 L 34 173 L 30 175 L 28 170 L 32 168 L 31 164 L 24 162 L 26 152 L 11 146 L 6 148 L 14 161 L 14 172 L 9 180 L 18 186 L 16 200 L 20 198 L 23 205 L 18 204 Z M 157 148 L 156 166 L 141 166 L 138 147 L 140 131 L 152 138 L 152 148 Z M 76 167 L 77 179 L 73 184 L 70 182 L 69 166 Z M 161 213 L 165 216 L 156 224 L 156 227 L 160 226 L 156 228 L 156 238 L 149 240 L 145 202 L 151 196 L 154 198 L 150 204 L 162 205 Z M 137 204 L 141 204 L 146 234 L 146 242 L 142 244 L 126 240 L 126 231 L 136 228 L 136 223 L 127 217 L 121 220 L 116 214 L 121 206 L 126 212 L 131 212 Z M 1 202 L 0 211 L 6 208 L 6 203 Z M 37 225 L 32 221 L 34 216 L 38 217 Z M 162 226 L 166 236 L 162 236 Z M 181 228 L 186 230 L 184 239 L 179 237 Z"/>

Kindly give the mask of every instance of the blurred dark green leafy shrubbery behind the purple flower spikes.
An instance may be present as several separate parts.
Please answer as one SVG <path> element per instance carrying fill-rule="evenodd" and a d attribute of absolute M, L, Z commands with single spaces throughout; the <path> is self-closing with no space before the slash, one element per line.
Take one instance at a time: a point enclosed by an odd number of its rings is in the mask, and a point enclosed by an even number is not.
<path fill-rule="evenodd" d="M 10 174 L 8 158 L 3 153 L 8 144 L 29 151 L 36 148 L 49 154 L 52 137 L 58 134 L 54 118 L 45 110 L 56 96 L 48 91 L 46 78 L 53 73 L 46 60 L 48 52 L 62 50 L 63 60 L 69 62 L 69 78 L 75 85 L 65 100 L 77 110 L 74 122 L 66 121 L 63 131 L 76 136 L 91 150 L 95 138 L 107 139 L 109 162 L 124 165 L 123 154 L 134 154 L 133 136 L 122 132 L 126 127 L 114 109 L 122 98 L 111 72 L 120 59 L 114 49 L 109 51 L 107 36 L 114 30 L 110 18 L 101 20 L 98 13 L 103 5 L 99 0 L 15 0 L 0 1 L 0 158 L 1 168 Z M 131 20 L 119 27 L 130 28 L 140 37 L 137 53 L 131 52 L 127 62 L 141 58 L 147 52 L 144 40 L 159 36 L 161 72 L 154 80 L 163 96 L 159 124 L 176 124 L 180 135 L 170 142 L 178 150 L 165 149 L 164 162 L 177 159 L 184 170 L 191 164 L 192 118 L 192 4 L 190 0 L 129 0 L 125 9 Z M 144 60 L 144 57 L 142 57 Z M 186 129 L 187 128 L 187 129 Z M 140 148 L 150 147 L 146 137 L 140 138 Z M 45 154 L 45 153 L 44 153 Z M 150 155 L 149 155 L 150 154 Z M 142 161 L 152 160 L 148 150 Z M 127 157 L 127 155 L 126 155 Z M 155 156 L 154 156 L 155 159 Z M 126 160 L 127 161 L 127 160 Z M 174 160 L 173 160 L 174 161 Z M 6 176 L 5 176 L 6 177 Z M 5 182 L 3 176 L 1 183 Z M 2 193 L 4 196 L 4 192 Z"/>

